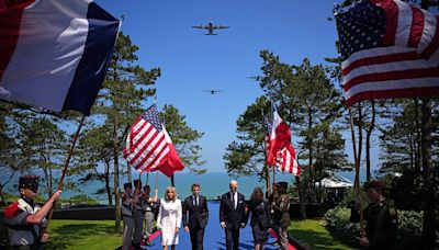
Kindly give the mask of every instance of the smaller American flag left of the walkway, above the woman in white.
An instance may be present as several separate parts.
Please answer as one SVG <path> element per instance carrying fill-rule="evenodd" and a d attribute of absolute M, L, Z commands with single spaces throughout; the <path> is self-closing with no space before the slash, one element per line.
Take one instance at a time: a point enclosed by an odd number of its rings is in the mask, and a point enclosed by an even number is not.
<path fill-rule="evenodd" d="M 138 171 L 154 171 L 169 154 L 156 105 L 149 106 L 132 125 L 123 156 Z"/>

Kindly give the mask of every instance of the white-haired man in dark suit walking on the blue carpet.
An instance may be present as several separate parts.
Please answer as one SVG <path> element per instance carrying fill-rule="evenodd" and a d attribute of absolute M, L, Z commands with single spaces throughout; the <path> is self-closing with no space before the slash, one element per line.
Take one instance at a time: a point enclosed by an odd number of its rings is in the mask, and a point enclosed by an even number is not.
<path fill-rule="evenodd" d="M 246 227 L 246 203 L 243 194 L 238 193 L 238 182 L 230 181 L 230 192 L 223 194 L 219 205 L 219 224 L 226 231 L 227 250 L 238 250 L 239 229 Z M 233 248 L 232 248 L 233 245 Z"/>

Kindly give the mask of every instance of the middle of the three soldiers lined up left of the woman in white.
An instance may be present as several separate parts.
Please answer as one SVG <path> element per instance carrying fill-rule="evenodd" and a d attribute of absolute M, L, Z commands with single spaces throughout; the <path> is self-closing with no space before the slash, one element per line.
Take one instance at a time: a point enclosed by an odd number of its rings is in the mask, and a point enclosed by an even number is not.
<path fill-rule="evenodd" d="M 134 235 L 133 246 L 134 249 L 140 249 L 142 235 L 144 231 L 145 214 L 142 211 L 142 181 L 134 180 Z"/>

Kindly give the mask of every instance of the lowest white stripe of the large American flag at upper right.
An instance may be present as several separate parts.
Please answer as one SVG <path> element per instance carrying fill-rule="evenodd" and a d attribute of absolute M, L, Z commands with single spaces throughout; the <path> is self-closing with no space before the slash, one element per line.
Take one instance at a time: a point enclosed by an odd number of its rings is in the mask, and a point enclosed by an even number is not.
<path fill-rule="evenodd" d="M 401 79 L 386 81 L 369 81 L 367 83 L 357 84 L 345 92 L 346 99 L 368 91 L 385 91 L 385 90 L 402 90 L 410 88 L 437 87 L 439 77 L 417 78 L 417 79 Z"/>

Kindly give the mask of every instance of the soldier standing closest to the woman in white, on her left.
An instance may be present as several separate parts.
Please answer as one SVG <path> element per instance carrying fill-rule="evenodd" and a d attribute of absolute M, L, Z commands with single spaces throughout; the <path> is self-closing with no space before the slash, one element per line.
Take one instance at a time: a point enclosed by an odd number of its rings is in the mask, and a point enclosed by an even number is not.
<path fill-rule="evenodd" d="M 149 185 L 144 186 L 144 193 L 140 197 L 142 211 L 145 214 L 145 228 L 144 228 L 144 240 L 146 246 L 154 246 L 149 240 L 149 236 L 153 234 L 153 220 L 154 220 L 154 205 L 158 200 L 158 190 L 155 190 L 155 196 L 149 196 L 150 188 Z"/>

